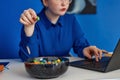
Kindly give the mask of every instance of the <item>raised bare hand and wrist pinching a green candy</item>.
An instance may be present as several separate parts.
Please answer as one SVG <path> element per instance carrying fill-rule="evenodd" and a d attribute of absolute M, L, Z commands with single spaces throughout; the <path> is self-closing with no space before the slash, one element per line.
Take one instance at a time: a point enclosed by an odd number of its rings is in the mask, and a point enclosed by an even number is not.
<path fill-rule="evenodd" d="M 21 14 L 20 22 L 25 26 L 24 31 L 26 36 L 32 36 L 34 32 L 35 23 L 39 20 L 36 12 L 33 9 L 24 10 Z"/>

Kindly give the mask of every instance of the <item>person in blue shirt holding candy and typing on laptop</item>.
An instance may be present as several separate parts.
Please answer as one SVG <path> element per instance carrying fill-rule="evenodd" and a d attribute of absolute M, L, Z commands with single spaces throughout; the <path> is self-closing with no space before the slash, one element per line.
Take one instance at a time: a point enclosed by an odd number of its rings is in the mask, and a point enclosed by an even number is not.
<path fill-rule="evenodd" d="M 44 8 L 40 13 L 30 8 L 21 14 L 20 58 L 26 61 L 40 56 L 65 57 L 73 48 L 79 57 L 91 59 L 95 55 L 99 61 L 103 50 L 91 46 L 75 16 L 66 13 L 72 0 L 41 1 Z"/>

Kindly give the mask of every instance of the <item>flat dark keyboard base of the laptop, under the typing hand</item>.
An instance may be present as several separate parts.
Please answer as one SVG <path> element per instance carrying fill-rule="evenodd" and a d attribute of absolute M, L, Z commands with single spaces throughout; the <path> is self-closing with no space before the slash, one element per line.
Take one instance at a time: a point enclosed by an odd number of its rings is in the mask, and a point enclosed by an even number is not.
<path fill-rule="evenodd" d="M 70 65 L 75 67 L 103 71 L 108 64 L 109 59 L 110 59 L 109 57 L 103 57 L 101 60 L 99 60 L 99 62 L 96 62 L 95 59 L 80 60 L 80 61 L 70 63 Z"/>

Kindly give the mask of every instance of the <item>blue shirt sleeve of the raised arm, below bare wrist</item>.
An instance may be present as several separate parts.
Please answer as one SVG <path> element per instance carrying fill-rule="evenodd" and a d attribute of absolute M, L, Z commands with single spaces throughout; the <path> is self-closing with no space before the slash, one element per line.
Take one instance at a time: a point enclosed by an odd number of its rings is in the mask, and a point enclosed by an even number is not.
<path fill-rule="evenodd" d="M 38 57 L 39 56 L 39 45 L 37 39 L 37 30 L 35 28 L 34 33 L 31 37 L 27 37 L 24 32 L 24 26 L 21 30 L 21 41 L 19 44 L 19 56 L 22 61 L 26 61 L 28 58 L 31 57 Z"/>

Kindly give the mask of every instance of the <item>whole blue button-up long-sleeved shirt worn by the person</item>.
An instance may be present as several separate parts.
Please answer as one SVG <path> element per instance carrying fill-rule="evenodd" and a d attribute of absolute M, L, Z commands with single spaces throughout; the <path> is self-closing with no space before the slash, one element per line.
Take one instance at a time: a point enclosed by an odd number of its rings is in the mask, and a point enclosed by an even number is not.
<path fill-rule="evenodd" d="M 83 57 L 82 51 L 89 43 L 73 14 L 61 16 L 56 24 L 49 21 L 44 9 L 38 16 L 40 20 L 31 37 L 26 37 L 24 26 L 21 31 L 19 55 L 23 61 L 40 56 L 69 56 L 71 48 Z"/>

